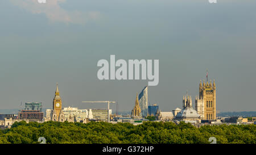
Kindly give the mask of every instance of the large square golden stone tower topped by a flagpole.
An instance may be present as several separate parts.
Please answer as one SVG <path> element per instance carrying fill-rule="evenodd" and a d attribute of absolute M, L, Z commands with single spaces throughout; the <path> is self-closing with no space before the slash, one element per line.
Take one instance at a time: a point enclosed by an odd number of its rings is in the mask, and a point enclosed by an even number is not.
<path fill-rule="evenodd" d="M 215 81 L 210 80 L 210 83 L 200 81 L 199 97 L 196 98 L 196 110 L 203 116 L 203 119 L 216 119 L 216 85 Z"/>

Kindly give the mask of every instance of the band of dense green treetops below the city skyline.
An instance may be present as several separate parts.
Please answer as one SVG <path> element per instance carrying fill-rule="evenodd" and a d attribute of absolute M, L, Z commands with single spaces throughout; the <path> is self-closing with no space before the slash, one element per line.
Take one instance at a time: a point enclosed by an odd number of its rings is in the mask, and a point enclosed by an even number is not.
<path fill-rule="evenodd" d="M 181 122 L 130 123 L 16 122 L 0 132 L 0 143 L 256 143 L 256 125 L 204 125 L 196 128 Z"/>

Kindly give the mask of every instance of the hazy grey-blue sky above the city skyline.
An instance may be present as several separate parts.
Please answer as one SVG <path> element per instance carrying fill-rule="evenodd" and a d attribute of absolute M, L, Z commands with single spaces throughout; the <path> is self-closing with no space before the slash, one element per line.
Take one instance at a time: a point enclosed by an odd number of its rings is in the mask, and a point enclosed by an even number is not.
<path fill-rule="evenodd" d="M 159 60 L 148 88 L 162 111 L 182 107 L 200 79 L 215 79 L 217 110 L 256 111 L 256 1 L 2 0 L 0 109 L 21 102 L 106 108 L 83 100 L 117 100 L 131 111 L 147 80 L 99 80 L 97 62 Z M 112 104 L 115 112 L 115 105 Z"/>

